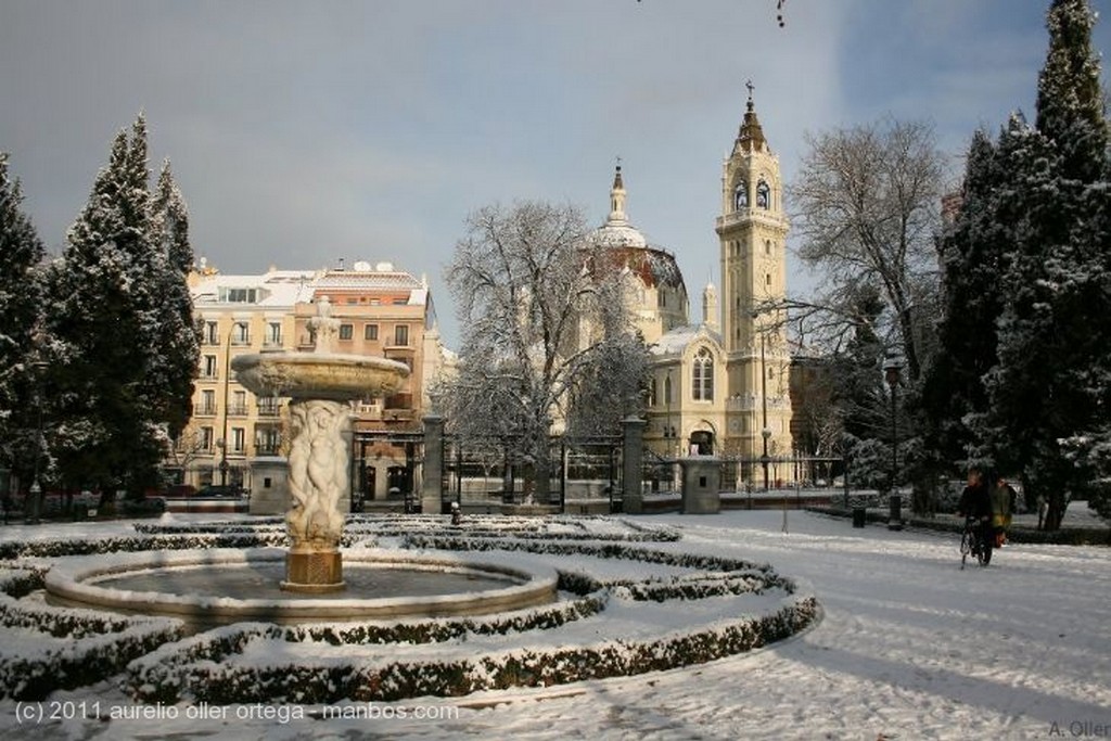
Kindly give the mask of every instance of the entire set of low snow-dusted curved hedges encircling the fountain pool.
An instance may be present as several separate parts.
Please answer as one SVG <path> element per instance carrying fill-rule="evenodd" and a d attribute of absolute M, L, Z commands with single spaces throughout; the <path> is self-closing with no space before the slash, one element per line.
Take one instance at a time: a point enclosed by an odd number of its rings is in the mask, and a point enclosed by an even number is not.
<path fill-rule="evenodd" d="M 429 619 L 407 623 L 320 623 L 272 625 L 238 623 L 182 639 L 180 621 L 124 617 L 92 610 L 70 610 L 24 603 L 18 598 L 42 583 L 42 569 L 0 569 L 0 627 L 31 629 L 72 642 L 48 648 L 34 657 L 0 662 L 0 698 L 42 699 L 57 689 L 72 689 L 123 674 L 123 689 L 146 702 L 180 700 L 212 703 L 289 701 L 336 702 L 398 700 L 421 694 L 459 695 L 479 690 L 537 687 L 584 679 L 638 674 L 701 663 L 764 645 L 810 624 L 818 614 L 812 595 L 795 595 L 790 579 L 769 565 L 734 559 L 652 550 L 643 542 L 672 542 L 670 529 L 640 528 L 634 532 L 550 531 L 527 520 L 520 527 L 452 528 L 442 519 L 426 518 L 413 528 L 411 518 L 386 519 L 381 524 L 358 522 L 351 540 L 397 535 L 407 548 L 464 551 L 518 550 L 547 555 L 592 555 L 680 567 L 701 573 L 645 579 L 598 579 L 588 573 L 559 571 L 559 587 L 577 595 L 565 602 L 521 613 L 482 618 Z M 563 523 L 561 523 L 563 524 Z M 434 525 L 434 528 L 432 527 Z M 219 531 L 213 531 L 219 528 Z M 413 530 L 417 532 L 413 532 Z M 0 558 L 64 557 L 118 551 L 282 545 L 281 521 L 249 525 L 137 525 L 132 538 L 0 543 Z M 589 542 L 588 542 L 589 541 Z M 18 564 L 17 564 L 18 565 Z M 758 617 L 739 615 L 691 631 L 672 631 L 639 641 L 559 647 L 550 650 L 507 649 L 487 655 L 443 661 L 392 661 L 353 658 L 333 663 L 311 659 L 298 665 L 220 665 L 258 640 L 317 641 L 332 645 L 419 643 L 466 640 L 467 634 L 508 634 L 554 629 L 601 612 L 611 598 L 631 601 L 697 600 L 708 597 L 761 593 L 780 589 L 788 595 L 779 610 Z"/>

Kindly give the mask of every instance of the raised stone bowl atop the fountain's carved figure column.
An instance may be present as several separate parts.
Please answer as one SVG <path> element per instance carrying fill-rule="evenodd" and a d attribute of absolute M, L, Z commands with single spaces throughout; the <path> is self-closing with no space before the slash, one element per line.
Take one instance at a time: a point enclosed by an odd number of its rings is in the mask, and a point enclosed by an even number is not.
<path fill-rule="evenodd" d="M 319 352 L 239 356 L 231 368 L 259 395 L 332 401 L 388 394 L 409 377 L 409 367 L 397 360 Z"/>

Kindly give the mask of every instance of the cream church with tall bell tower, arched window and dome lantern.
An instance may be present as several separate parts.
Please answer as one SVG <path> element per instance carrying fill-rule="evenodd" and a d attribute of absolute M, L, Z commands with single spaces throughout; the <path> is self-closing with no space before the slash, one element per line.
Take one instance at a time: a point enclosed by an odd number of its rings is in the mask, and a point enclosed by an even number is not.
<path fill-rule="evenodd" d="M 722 166 L 714 224 L 721 288 L 703 289 L 697 321 L 688 319 L 673 256 L 648 246 L 628 221 L 620 167 L 610 200 L 610 218 L 592 234 L 594 241 L 639 252 L 651 267 L 633 292 L 638 327 L 651 353 L 647 448 L 664 460 L 734 459 L 738 485 L 761 485 L 765 475 L 789 480 L 791 358 L 781 304 L 789 223 L 779 158 L 768 146 L 751 91 Z"/>

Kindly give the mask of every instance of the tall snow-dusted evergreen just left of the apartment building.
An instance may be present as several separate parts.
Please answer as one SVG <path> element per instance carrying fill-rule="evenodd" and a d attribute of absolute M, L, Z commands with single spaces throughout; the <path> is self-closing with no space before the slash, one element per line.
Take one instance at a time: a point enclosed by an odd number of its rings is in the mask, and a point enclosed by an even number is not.
<path fill-rule="evenodd" d="M 149 189 L 147 123 L 121 131 L 49 271 L 54 306 L 53 439 L 68 485 L 158 483 L 172 434 L 188 421 L 197 329 L 187 309 L 187 217 L 169 170 Z M 191 262 L 191 260 L 189 260 Z"/>

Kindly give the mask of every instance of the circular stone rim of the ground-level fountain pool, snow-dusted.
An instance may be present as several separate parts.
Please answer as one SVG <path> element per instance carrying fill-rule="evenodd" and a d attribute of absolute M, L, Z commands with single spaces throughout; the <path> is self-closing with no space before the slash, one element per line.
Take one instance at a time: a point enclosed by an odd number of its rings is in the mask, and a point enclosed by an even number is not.
<path fill-rule="evenodd" d="M 481 561 L 460 554 L 400 552 L 366 548 L 343 551 L 347 564 L 374 568 L 406 568 L 412 570 L 449 570 L 456 573 L 477 573 L 488 578 L 513 580 L 501 589 L 476 590 L 456 594 L 400 595 L 379 598 L 330 597 L 298 599 L 237 599 L 173 594 L 169 592 L 132 591 L 98 585 L 91 580 L 119 575 L 131 571 L 190 565 L 249 565 L 258 562 L 283 561 L 281 548 L 253 549 L 196 549 L 181 551 L 146 551 L 112 553 L 98 557 L 93 563 L 83 557 L 67 557 L 54 561 L 44 584 L 48 594 L 79 602 L 83 607 L 117 608 L 129 612 L 149 614 L 199 614 L 212 610 L 217 614 L 243 619 L 256 612 L 288 619 L 359 619 L 394 618 L 429 614 L 477 614 L 500 612 L 511 607 L 530 607 L 553 601 L 558 574 L 551 567 L 530 560 L 511 558 L 511 554 L 483 553 Z M 499 558 L 504 555 L 507 558 Z M 490 610 L 478 609 L 478 603 Z M 429 613 L 428 608 L 444 608 Z M 453 612 L 458 609 L 460 612 Z M 214 615 L 213 615 L 214 617 Z"/>

